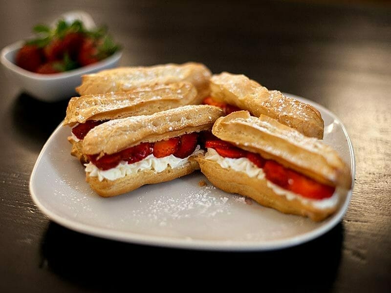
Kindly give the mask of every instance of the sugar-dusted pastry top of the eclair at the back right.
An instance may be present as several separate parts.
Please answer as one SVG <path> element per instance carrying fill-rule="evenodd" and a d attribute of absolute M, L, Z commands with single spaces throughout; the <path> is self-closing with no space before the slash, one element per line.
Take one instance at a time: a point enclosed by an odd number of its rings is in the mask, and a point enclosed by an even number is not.
<path fill-rule="evenodd" d="M 268 90 L 242 74 L 223 72 L 211 78 L 211 96 L 259 117 L 261 114 L 295 128 L 309 137 L 323 138 L 324 123 L 313 106 Z"/>

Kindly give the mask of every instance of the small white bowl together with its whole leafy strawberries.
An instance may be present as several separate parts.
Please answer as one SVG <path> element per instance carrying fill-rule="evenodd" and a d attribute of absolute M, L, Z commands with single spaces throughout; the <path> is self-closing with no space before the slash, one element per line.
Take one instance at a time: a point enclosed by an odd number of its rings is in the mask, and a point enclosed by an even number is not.
<path fill-rule="evenodd" d="M 44 102 L 69 99 L 81 76 L 116 67 L 122 52 L 107 29 L 85 12 L 62 16 L 52 26 L 36 25 L 35 37 L 8 45 L 0 61 L 11 81 Z"/>

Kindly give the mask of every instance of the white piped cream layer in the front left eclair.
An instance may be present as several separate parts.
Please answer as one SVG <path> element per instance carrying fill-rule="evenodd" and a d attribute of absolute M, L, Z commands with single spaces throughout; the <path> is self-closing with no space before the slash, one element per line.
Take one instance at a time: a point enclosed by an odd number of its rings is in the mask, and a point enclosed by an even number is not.
<path fill-rule="evenodd" d="M 91 162 L 85 164 L 85 166 L 86 172 L 89 173 L 90 177 L 98 177 L 99 181 L 102 181 L 103 179 L 116 180 L 118 178 L 125 177 L 126 175 L 136 174 L 143 170 L 153 170 L 154 173 L 160 173 L 168 167 L 171 167 L 172 169 L 183 167 L 189 162 L 189 158 L 191 156 L 198 156 L 200 154 L 203 155 L 204 153 L 205 151 L 197 146 L 194 152 L 184 159 L 175 157 L 174 155 L 156 158 L 153 154 L 151 154 L 143 160 L 132 164 L 128 164 L 126 161 L 121 161 L 116 167 L 108 170 L 101 170 Z"/>

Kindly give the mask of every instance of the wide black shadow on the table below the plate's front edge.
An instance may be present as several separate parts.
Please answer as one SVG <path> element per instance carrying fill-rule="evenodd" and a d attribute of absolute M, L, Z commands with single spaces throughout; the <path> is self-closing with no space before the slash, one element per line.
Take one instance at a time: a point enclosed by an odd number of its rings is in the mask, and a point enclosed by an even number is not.
<path fill-rule="evenodd" d="M 51 222 L 42 243 L 42 268 L 84 289 L 131 290 L 140 284 L 173 289 L 184 281 L 192 289 L 211 282 L 322 292 L 334 283 L 343 235 L 339 224 L 311 242 L 280 251 L 189 251 L 110 241 Z"/>

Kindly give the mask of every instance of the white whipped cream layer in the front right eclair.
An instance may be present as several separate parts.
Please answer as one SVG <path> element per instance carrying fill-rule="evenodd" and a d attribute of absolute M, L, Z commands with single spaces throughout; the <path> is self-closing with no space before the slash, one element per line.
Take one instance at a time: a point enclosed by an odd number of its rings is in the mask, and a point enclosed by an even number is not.
<path fill-rule="evenodd" d="M 204 159 L 217 162 L 223 168 L 232 168 L 238 172 L 244 172 L 247 176 L 253 178 L 256 177 L 258 179 L 265 179 L 265 173 L 262 168 L 257 167 L 254 163 L 252 163 L 247 158 L 225 158 L 220 156 L 214 148 L 208 148 L 208 151 L 205 153 Z M 271 181 L 266 180 L 266 185 L 268 188 L 273 189 L 273 191 L 278 194 L 285 196 L 287 200 L 298 199 L 304 204 L 309 204 L 317 209 L 329 209 L 335 207 L 338 204 L 338 194 L 334 192 L 334 194 L 325 199 L 309 199 L 304 196 L 281 188 L 280 186 L 272 183 Z"/>

